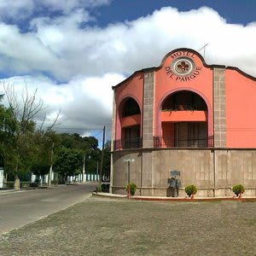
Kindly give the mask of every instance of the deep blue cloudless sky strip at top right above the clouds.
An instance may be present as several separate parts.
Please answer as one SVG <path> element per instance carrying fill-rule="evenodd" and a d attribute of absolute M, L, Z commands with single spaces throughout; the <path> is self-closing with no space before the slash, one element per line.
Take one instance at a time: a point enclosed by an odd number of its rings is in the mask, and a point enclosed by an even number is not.
<path fill-rule="evenodd" d="M 246 25 L 255 21 L 256 1 L 254 0 L 114 0 L 110 6 L 97 9 L 98 24 L 125 20 L 136 20 L 141 16 L 152 14 L 155 9 L 175 7 L 179 11 L 189 11 L 208 6 L 218 11 L 230 23 Z"/>

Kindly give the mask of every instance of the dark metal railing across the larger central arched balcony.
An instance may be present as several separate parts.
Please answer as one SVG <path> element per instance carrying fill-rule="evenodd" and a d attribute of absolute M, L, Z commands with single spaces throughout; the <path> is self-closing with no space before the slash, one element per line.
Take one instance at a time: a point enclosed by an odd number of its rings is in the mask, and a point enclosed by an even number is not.
<path fill-rule="evenodd" d="M 212 148 L 213 137 L 154 137 L 154 148 Z"/>

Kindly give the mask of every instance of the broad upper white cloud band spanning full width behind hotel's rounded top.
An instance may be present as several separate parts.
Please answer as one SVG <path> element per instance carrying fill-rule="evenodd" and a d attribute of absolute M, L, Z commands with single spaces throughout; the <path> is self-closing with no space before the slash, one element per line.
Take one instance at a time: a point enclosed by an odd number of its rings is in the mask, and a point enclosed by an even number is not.
<path fill-rule="evenodd" d="M 133 73 L 159 66 L 172 49 L 198 50 L 208 44 L 208 64 L 236 66 L 256 76 L 255 22 L 227 24 L 206 7 L 189 12 L 163 8 L 106 28 L 86 25 L 91 19 L 88 11 L 74 9 L 68 15 L 35 18 L 26 33 L 2 23 L 0 71 L 46 72 L 62 81 L 78 74 Z"/>

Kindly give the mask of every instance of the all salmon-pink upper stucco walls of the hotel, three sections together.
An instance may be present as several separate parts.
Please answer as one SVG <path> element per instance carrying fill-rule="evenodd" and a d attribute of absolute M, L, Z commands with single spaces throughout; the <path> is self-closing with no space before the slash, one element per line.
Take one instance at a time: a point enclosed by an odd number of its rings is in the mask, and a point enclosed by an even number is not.
<path fill-rule="evenodd" d="M 188 56 L 195 62 L 195 74 L 188 78 L 177 77 L 170 66 L 176 57 Z M 177 49 L 167 54 L 160 67 L 154 69 L 154 136 L 163 136 L 162 122 L 207 121 L 208 136 L 213 136 L 213 66 L 207 66 L 201 55 L 189 49 Z M 143 124 L 143 71 L 134 73 L 129 79 L 114 88 L 116 100 L 116 134 L 121 139 L 121 128 Z M 167 116 L 162 113 L 162 104 L 167 96 L 179 90 L 190 90 L 201 96 L 207 104 L 207 112 L 190 113 L 180 111 Z M 236 68 L 225 69 L 226 93 L 226 146 L 228 148 L 256 148 L 256 79 L 241 73 Z M 122 119 L 119 109 L 127 97 L 137 101 L 140 117 Z M 139 120 L 140 119 L 140 120 Z"/>

